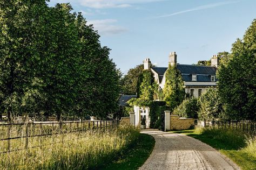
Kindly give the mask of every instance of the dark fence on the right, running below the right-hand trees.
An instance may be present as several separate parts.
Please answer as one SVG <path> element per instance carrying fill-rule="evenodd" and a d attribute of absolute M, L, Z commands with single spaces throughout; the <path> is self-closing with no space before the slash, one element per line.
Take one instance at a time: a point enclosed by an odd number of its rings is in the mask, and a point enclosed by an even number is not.
<path fill-rule="evenodd" d="M 204 125 L 221 128 L 234 129 L 246 133 L 250 136 L 256 136 L 256 122 L 253 121 L 210 121 L 204 120 Z"/>

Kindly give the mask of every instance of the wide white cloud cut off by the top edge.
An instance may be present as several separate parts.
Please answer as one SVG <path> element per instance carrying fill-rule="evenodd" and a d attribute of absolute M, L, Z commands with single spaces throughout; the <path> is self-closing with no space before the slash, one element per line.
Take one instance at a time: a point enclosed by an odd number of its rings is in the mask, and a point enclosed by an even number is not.
<path fill-rule="evenodd" d="M 67 0 L 53 0 L 56 3 L 64 3 Z M 166 0 L 73 0 L 71 4 L 79 4 L 89 8 L 102 9 L 102 8 L 127 8 L 132 4 L 150 3 Z"/>

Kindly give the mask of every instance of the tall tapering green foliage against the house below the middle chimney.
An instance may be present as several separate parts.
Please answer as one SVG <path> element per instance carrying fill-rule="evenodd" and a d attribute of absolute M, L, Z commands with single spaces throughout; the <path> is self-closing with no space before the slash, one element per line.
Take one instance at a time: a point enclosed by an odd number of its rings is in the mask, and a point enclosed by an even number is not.
<path fill-rule="evenodd" d="M 176 66 L 169 65 L 165 73 L 164 101 L 171 111 L 177 107 L 185 97 L 184 82 Z"/>

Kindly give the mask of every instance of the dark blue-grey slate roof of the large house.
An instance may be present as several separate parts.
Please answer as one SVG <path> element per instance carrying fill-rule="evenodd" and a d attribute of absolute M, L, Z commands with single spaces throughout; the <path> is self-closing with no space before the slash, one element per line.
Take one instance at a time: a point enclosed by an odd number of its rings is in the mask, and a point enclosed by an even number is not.
<path fill-rule="evenodd" d="M 180 70 L 184 81 L 192 81 L 192 74 L 197 74 L 197 82 L 211 82 L 211 75 L 216 74 L 216 68 L 212 66 L 196 66 L 196 65 L 179 65 L 177 68 Z M 159 82 L 163 80 L 164 73 L 167 67 L 152 67 L 158 74 Z M 217 81 L 217 79 L 215 79 Z"/>

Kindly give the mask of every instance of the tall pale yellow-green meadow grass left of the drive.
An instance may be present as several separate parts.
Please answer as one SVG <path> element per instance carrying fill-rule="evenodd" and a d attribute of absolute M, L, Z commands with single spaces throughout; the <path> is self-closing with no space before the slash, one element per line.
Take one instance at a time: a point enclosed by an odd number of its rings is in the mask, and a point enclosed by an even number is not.
<path fill-rule="evenodd" d="M 138 137 L 138 129 L 119 126 L 105 132 L 87 130 L 31 138 L 31 146 L 39 141 L 48 145 L 0 154 L 0 169 L 96 169 L 117 159 Z M 23 144 L 22 140 L 16 145 Z"/>

